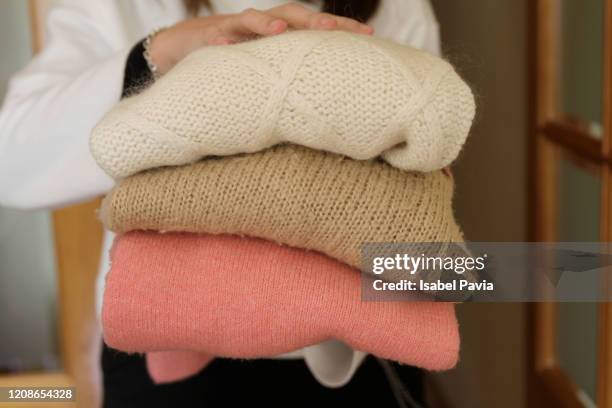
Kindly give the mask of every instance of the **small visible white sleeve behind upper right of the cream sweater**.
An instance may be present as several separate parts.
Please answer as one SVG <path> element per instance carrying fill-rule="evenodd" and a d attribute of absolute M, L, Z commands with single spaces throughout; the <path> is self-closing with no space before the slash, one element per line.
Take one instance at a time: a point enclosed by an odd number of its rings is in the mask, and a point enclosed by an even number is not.
<path fill-rule="evenodd" d="M 440 55 L 440 30 L 429 0 L 382 0 L 369 22 L 374 34 Z"/>

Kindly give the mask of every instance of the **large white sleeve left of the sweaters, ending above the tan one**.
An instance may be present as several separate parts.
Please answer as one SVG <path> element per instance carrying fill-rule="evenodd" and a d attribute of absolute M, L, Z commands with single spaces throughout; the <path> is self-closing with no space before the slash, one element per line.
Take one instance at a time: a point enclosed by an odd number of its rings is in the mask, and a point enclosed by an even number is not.
<path fill-rule="evenodd" d="M 114 1 L 56 1 L 46 46 L 17 73 L 0 111 L 0 204 L 57 207 L 113 185 L 89 133 L 121 96 L 129 53 Z"/>

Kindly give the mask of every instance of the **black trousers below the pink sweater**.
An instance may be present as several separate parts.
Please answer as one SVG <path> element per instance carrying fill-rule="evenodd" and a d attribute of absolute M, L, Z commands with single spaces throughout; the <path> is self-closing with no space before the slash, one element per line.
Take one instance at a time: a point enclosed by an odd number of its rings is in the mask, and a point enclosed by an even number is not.
<path fill-rule="evenodd" d="M 320 385 L 303 360 L 230 360 L 218 358 L 197 375 L 172 384 L 154 385 L 144 358 L 104 345 L 105 408 L 138 407 L 399 407 L 397 387 L 388 380 L 391 370 L 401 378 L 412 398 L 422 403 L 422 371 L 379 362 L 369 356 L 344 387 Z M 410 403 L 404 406 L 410 407 Z M 412 405 L 413 406 L 413 405 Z"/>

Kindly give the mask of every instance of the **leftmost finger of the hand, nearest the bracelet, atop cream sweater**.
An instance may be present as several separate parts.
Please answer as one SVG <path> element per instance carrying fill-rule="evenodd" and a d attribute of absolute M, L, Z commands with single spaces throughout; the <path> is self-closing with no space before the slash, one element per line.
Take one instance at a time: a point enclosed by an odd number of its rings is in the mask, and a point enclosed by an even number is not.
<path fill-rule="evenodd" d="M 287 23 L 263 11 L 246 9 L 223 23 L 224 32 L 232 35 L 274 35 L 287 29 Z"/>

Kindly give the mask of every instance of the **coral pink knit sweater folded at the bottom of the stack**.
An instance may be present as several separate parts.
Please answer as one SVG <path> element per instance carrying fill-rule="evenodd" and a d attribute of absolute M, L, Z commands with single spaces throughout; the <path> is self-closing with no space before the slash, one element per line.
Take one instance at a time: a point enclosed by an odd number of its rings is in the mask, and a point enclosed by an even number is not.
<path fill-rule="evenodd" d="M 212 356 L 269 357 L 335 338 L 430 370 L 452 368 L 450 303 L 363 302 L 360 274 L 316 252 L 231 235 L 132 232 L 116 238 L 104 340 L 148 359 L 157 381 Z"/>

